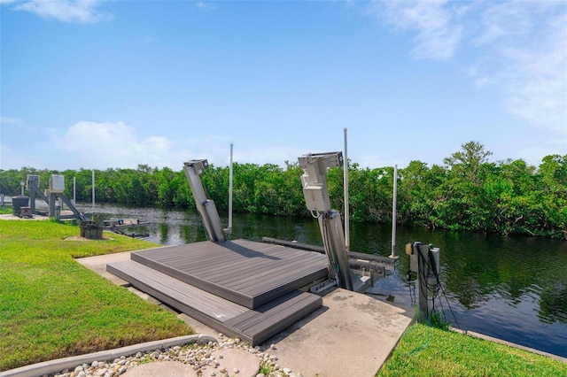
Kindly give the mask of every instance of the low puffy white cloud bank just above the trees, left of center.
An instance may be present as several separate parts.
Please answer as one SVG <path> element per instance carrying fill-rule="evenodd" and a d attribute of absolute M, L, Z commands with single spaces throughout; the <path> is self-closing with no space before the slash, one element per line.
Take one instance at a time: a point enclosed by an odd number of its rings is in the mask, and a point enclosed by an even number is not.
<path fill-rule="evenodd" d="M 137 165 L 151 167 L 168 166 L 181 170 L 183 162 L 195 158 L 206 158 L 215 166 L 229 165 L 230 138 L 224 135 L 207 135 L 172 142 L 165 136 L 152 135 L 141 138 L 136 129 L 123 122 L 81 121 L 68 127 L 62 134 L 48 130 L 55 146 L 50 164 L 58 169 L 79 167 L 108 169 L 136 168 Z M 299 148 L 257 147 L 246 142 L 234 143 L 233 160 L 238 163 L 284 165 L 305 153 Z M 57 155 L 57 156 L 55 156 Z M 56 158 L 57 157 L 57 158 Z M 54 162 L 57 159 L 56 162 Z"/>

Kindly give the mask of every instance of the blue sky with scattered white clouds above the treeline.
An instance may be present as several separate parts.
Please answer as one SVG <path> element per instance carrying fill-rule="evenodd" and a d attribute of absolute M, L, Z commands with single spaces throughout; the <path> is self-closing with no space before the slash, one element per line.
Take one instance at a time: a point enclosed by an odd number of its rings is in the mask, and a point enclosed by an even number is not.
<path fill-rule="evenodd" d="M 567 2 L 0 0 L 0 168 L 567 154 Z"/>

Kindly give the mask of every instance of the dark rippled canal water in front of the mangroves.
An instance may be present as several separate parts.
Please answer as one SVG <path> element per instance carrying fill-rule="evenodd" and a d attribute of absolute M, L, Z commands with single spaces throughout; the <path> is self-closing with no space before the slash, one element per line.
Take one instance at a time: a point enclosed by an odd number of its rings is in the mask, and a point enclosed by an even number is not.
<path fill-rule="evenodd" d="M 85 205 L 81 210 L 90 208 Z M 97 204 L 96 212 L 105 213 L 105 218 L 149 222 L 130 232 L 147 234 L 144 239 L 151 242 L 206 240 L 197 212 L 105 204 Z M 351 250 L 388 256 L 391 232 L 390 226 L 351 223 Z M 234 215 L 231 239 L 260 242 L 263 236 L 322 245 L 315 219 Z M 440 278 L 447 299 L 442 298 L 442 306 L 436 304 L 454 327 L 567 358 L 567 242 L 400 227 L 396 271 L 378 282 L 378 298 L 411 304 L 404 246 L 416 241 L 433 243 L 441 250 Z"/>

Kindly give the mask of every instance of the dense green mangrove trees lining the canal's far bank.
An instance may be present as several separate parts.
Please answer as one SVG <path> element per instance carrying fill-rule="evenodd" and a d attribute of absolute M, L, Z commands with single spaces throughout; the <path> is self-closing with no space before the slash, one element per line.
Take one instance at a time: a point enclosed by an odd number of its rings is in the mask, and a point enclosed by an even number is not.
<path fill-rule="evenodd" d="M 397 219 L 400 225 L 443 228 L 501 235 L 538 235 L 567 239 L 567 155 L 551 155 L 539 166 L 524 160 L 491 162 L 490 151 L 479 142 L 445 158 L 444 165 L 411 161 L 399 170 Z M 209 161 L 214 163 L 214 161 Z M 151 168 L 96 170 L 98 202 L 188 208 L 194 207 L 190 187 L 180 169 Z M 63 172 L 0 170 L 0 192 L 18 195 L 27 174 L 40 175 L 40 188 L 48 187 L 52 173 L 65 176 L 66 195 L 72 196 L 76 179 L 77 201 L 91 200 L 92 171 Z M 275 216 L 307 217 L 301 192 L 303 170 L 297 162 L 279 165 L 234 164 L 233 210 Z M 208 196 L 219 210 L 229 206 L 229 167 L 211 164 L 201 175 Z M 342 210 L 343 170 L 328 173 L 331 204 Z M 392 221 L 393 167 L 361 168 L 349 162 L 350 219 L 353 222 Z"/>

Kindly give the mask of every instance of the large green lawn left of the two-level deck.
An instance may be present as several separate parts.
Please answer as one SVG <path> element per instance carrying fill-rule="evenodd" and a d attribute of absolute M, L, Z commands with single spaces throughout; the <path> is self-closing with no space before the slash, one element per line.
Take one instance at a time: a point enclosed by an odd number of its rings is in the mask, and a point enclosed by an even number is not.
<path fill-rule="evenodd" d="M 0 220 L 0 371 L 179 335 L 174 314 L 115 286 L 74 258 L 156 246 L 113 233 L 68 241 L 77 226 Z"/>

